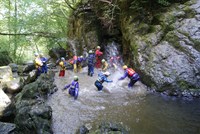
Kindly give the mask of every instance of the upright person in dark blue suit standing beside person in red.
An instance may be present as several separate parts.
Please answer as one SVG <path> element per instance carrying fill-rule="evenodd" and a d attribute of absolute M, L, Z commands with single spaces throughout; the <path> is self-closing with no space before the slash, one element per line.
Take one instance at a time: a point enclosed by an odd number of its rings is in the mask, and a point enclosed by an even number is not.
<path fill-rule="evenodd" d="M 88 75 L 93 76 L 94 74 L 94 64 L 95 64 L 95 54 L 92 50 L 89 51 L 89 55 L 87 57 L 88 64 Z"/>

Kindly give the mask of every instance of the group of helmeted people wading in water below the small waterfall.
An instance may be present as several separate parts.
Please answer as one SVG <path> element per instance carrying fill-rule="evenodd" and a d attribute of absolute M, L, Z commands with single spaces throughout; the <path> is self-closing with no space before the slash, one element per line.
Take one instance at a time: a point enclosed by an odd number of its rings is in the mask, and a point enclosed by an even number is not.
<path fill-rule="evenodd" d="M 84 60 L 87 60 L 87 65 L 88 65 L 88 76 L 93 76 L 94 75 L 94 67 L 96 68 L 102 68 L 101 72 L 98 74 L 98 78 L 95 81 L 94 85 L 97 87 L 98 91 L 103 90 L 103 83 L 108 82 L 111 83 L 113 82 L 112 80 L 108 80 L 108 76 L 110 76 L 110 73 L 107 71 L 108 69 L 108 63 L 105 59 L 101 60 L 101 56 L 103 55 L 103 52 L 100 51 L 100 46 L 97 46 L 97 50 L 95 53 L 90 50 L 88 57 L 83 58 L 82 56 L 80 57 L 73 57 L 73 60 L 71 61 L 71 64 L 73 64 L 74 67 L 74 72 L 77 66 L 79 68 L 81 67 L 81 62 Z M 116 57 L 117 59 L 119 57 Z M 111 60 L 114 60 L 113 57 L 111 57 Z M 117 65 L 112 62 L 112 66 L 114 68 L 117 67 Z M 61 62 L 59 63 L 61 70 L 59 73 L 59 76 L 64 76 L 65 72 L 65 64 L 66 61 L 64 58 L 61 58 Z M 128 87 L 131 88 L 133 85 L 140 79 L 138 73 L 136 73 L 132 68 L 128 68 L 126 65 L 123 66 L 124 69 L 124 75 L 120 77 L 118 80 L 123 80 L 126 77 L 130 79 L 130 82 L 128 84 Z M 63 90 L 69 88 L 69 94 L 74 97 L 74 99 L 78 98 L 78 92 L 79 92 L 79 82 L 78 82 L 78 76 L 74 76 L 74 80 L 71 82 L 71 84 L 66 85 Z"/>

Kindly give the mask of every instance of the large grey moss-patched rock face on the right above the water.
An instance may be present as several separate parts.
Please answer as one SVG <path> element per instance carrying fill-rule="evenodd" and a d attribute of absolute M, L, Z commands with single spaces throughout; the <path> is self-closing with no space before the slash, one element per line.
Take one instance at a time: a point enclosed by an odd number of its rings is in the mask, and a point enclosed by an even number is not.
<path fill-rule="evenodd" d="M 136 23 L 130 20 L 124 25 L 125 40 L 130 42 L 126 49 L 133 50 L 129 52 L 133 57 L 129 62 L 134 63 L 148 86 L 159 91 L 200 89 L 200 7 L 197 5 L 191 1 L 174 4 L 155 15 L 156 24 L 140 23 L 139 27 L 146 28 L 143 34 L 137 32 Z"/>

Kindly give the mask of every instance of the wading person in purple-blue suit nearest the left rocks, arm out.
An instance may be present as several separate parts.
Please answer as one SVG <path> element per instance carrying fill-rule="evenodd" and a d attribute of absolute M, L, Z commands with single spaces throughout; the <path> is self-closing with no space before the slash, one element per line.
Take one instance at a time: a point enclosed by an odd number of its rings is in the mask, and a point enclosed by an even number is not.
<path fill-rule="evenodd" d="M 78 98 L 78 92 L 79 92 L 79 82 L 78 82 L 78 76 L 74 76 L 74 80 L 71 82 L 71 84 L 66 85 L 62 90 L 66 90 L 69 88 L 69 94 L 74 97 L 76 100 Z"/>

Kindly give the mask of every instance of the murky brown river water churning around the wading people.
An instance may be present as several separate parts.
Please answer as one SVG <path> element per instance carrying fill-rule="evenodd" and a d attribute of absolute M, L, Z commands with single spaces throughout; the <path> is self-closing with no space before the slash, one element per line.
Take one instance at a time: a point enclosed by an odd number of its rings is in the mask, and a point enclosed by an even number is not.
<path fill-rule="evenodd" d="M 84 68 L 76 74 L 80 85 L 77 100 L 61 90 L 75 74 L 66 71 L 60 78 L 56 73 L 58 91 L 47 102 L 53 110 L 54 134 L 74 134 L 81 125 L 94 130 L 104 121 L 123 123 L 130 134 L 200 134 L 200 99 L 150 93 L 141 82 L 128 89 L 128 78 L 117 81 L 123 75 L 120 71 L 112 72 L 108 78 L 114 82 L 104 82 L 104 91 L 98 92 L 94 86 L 98 72 L 89 77 Z"/>

